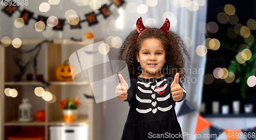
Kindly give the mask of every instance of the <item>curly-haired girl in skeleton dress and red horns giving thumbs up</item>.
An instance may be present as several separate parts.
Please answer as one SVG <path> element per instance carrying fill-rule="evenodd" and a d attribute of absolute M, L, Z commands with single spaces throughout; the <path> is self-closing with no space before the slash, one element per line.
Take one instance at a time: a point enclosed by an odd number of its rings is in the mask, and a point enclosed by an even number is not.
<path fill-rule="evenodd" d="M 167 18 L 160 29 L 145 27 L 141 17 L 136 25 L 119 54 L 131 78 L 129 88 L 118 75 L 117 97 L 130 106 L 121 139 L 183 139 L 175 103 L 186 97 L 181 82 L 186 74 L 185 57 L 190 59 L 186 46 L 169 31 Z"/>

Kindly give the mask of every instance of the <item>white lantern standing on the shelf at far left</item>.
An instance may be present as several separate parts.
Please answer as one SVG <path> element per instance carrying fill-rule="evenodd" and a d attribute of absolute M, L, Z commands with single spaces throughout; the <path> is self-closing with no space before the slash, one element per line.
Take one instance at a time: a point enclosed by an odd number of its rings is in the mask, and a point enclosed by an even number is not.
<path fill-rule="evenodd" d="M 20 122 L 29 122 L 33 119 L 31 118 L 31 104 L 29 104 L 29 99 L 24 98 L 22 104 L 19 105 L 19 121 Z"/>

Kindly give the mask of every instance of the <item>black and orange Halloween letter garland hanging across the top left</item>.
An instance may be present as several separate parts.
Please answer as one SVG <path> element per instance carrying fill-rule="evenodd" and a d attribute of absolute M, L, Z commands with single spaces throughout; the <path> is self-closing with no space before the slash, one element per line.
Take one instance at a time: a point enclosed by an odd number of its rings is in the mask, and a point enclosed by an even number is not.
<path fill-rule="evenodd" d="M 70 24 L 70 29 L 81 29 L 81 24 L 80 23 L 82 23 L 82 22 L 88 22 L 89 26 L 98 24 L 99 21 L 97 20 L 97 16 L 98 15 L 103 15 L 104 18 L 108 18 L 112 14 L 112 12 L 110 11 L 110 7 L 113 4 L 116 5 L 117 8 L 119 8 L 119 7 L 121 7 L 124 4 L 124 1 L 123 0 L 112 0 L 109 5 L 104 4 L 104 5 L 101 6 L 101 8 L 98 9 L 99 13 L 95 13 L 93 11 L 93 12 L 84 14 L 84 17 L 86 19 L 80 20 L 75 25 Z M 15 11 L 20 12 L 20 16 L 19 17 L 24 19 L 25 25 L 28 25 L 29 21 L 31 19 L 36 20 L 36 22 L 42 21 L 42 22 L 44 22 L 47 25 L 48 17 L 41 16 L 41 15 L 38 15 L 37 17 L 34 17 L 34 13 L 29 11 L 29 10 L 27 10 L 27 9 L 25 9 L 25 8 L 21 11 L 21 10 L 19 10 L 19 6 L 7 5 L 6 7 L 4 7 L 2 9 L 2 12 L 7 14 L 9 17 L 11 17 Z M 69 24 L 69 23 L 66 23 L 66 19 L 58 19 L 58 23 L 57 23 L 56 26 L 53 27 L 53 30 L 55 30 L 55 31 L 63 31 L 63 26 L 67 25 L 67 24 Z"/>

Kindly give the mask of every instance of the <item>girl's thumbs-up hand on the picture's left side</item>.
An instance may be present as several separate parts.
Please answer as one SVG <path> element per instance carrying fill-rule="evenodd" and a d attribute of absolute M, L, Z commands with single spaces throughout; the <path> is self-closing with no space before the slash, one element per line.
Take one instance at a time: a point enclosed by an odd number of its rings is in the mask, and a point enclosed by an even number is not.
<path fill-rule="evenodd" d="M 116 96 L 119 100 L 124 101 L 127 99 L 127 90 L 129 86 L 121 74 L 118 74 L 118 78 L 120 79 L 120 83 L 116 87 Z"/>

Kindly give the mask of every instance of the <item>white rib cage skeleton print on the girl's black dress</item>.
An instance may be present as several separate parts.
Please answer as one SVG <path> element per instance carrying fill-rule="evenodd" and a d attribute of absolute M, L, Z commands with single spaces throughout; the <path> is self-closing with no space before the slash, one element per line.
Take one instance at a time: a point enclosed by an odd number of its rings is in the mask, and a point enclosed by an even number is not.
<path fill-rule="evenodd" d="M 144 90 L 143 89 L 143 86 L 145 88 L 150 87 L 150 85 L 152 83 L 151 81 L 148 82 L 148 83 L 137 81 L 137 83 L 139 83 L 138 84 L 138 90 L 140 92 L 144 93 L 144 94 L 151 94 L 152 99 L 155 99 L 156 98 L 156 94 L 161 95 L 161 94 L 163 94 L 165 92 L 165 89 L 167 87 L 167 83 L 165 83 L 165 85 L 163 87 L 160 87 L 161 83 L 163 83 L 164 81 L 166 81 L 166 79 L 163 79 L 163 80 L 161 80 L 159 82 L 156 80 L 156 85 L 154 85 L 154 86 L 152 85 L 151 86 L 152 90 Z M 143 85 L 142 88 L 139 87 L 139 85 Z M 168 98 L 170 98 L 170 93 L 167 96 L 165 96 L 165 97 L 157 97 L 157 101 L 159 101 L 159 102 L 166 101 Z M 157 101 L 153 102 L 151 99 L 141 99 L 141 98 L 138 97 L 137 94 L 136 94 L 136 99 L 137 99 L 137 101 L 139 101 L 141 103 L 151 103 L 152 104 L 152 108 L 147 108 L 147 109 L 136 108 L 136 110 L 139 113 L 141 113 L 141 114 L 146 114 L 146 113 L 149 113 L 150 111 L 152 111 L 152 113 L 155 114 L 157 112 L 157 110 L 168 111 L 168 110 L 170 110 L 173 107 L 172 104 L 170 104 L 169 106 L 162 106 L 162 107 L 158 106 L 158 107 L 155 107 L 157 105 L 157 103 L 158 103 Z"/>

